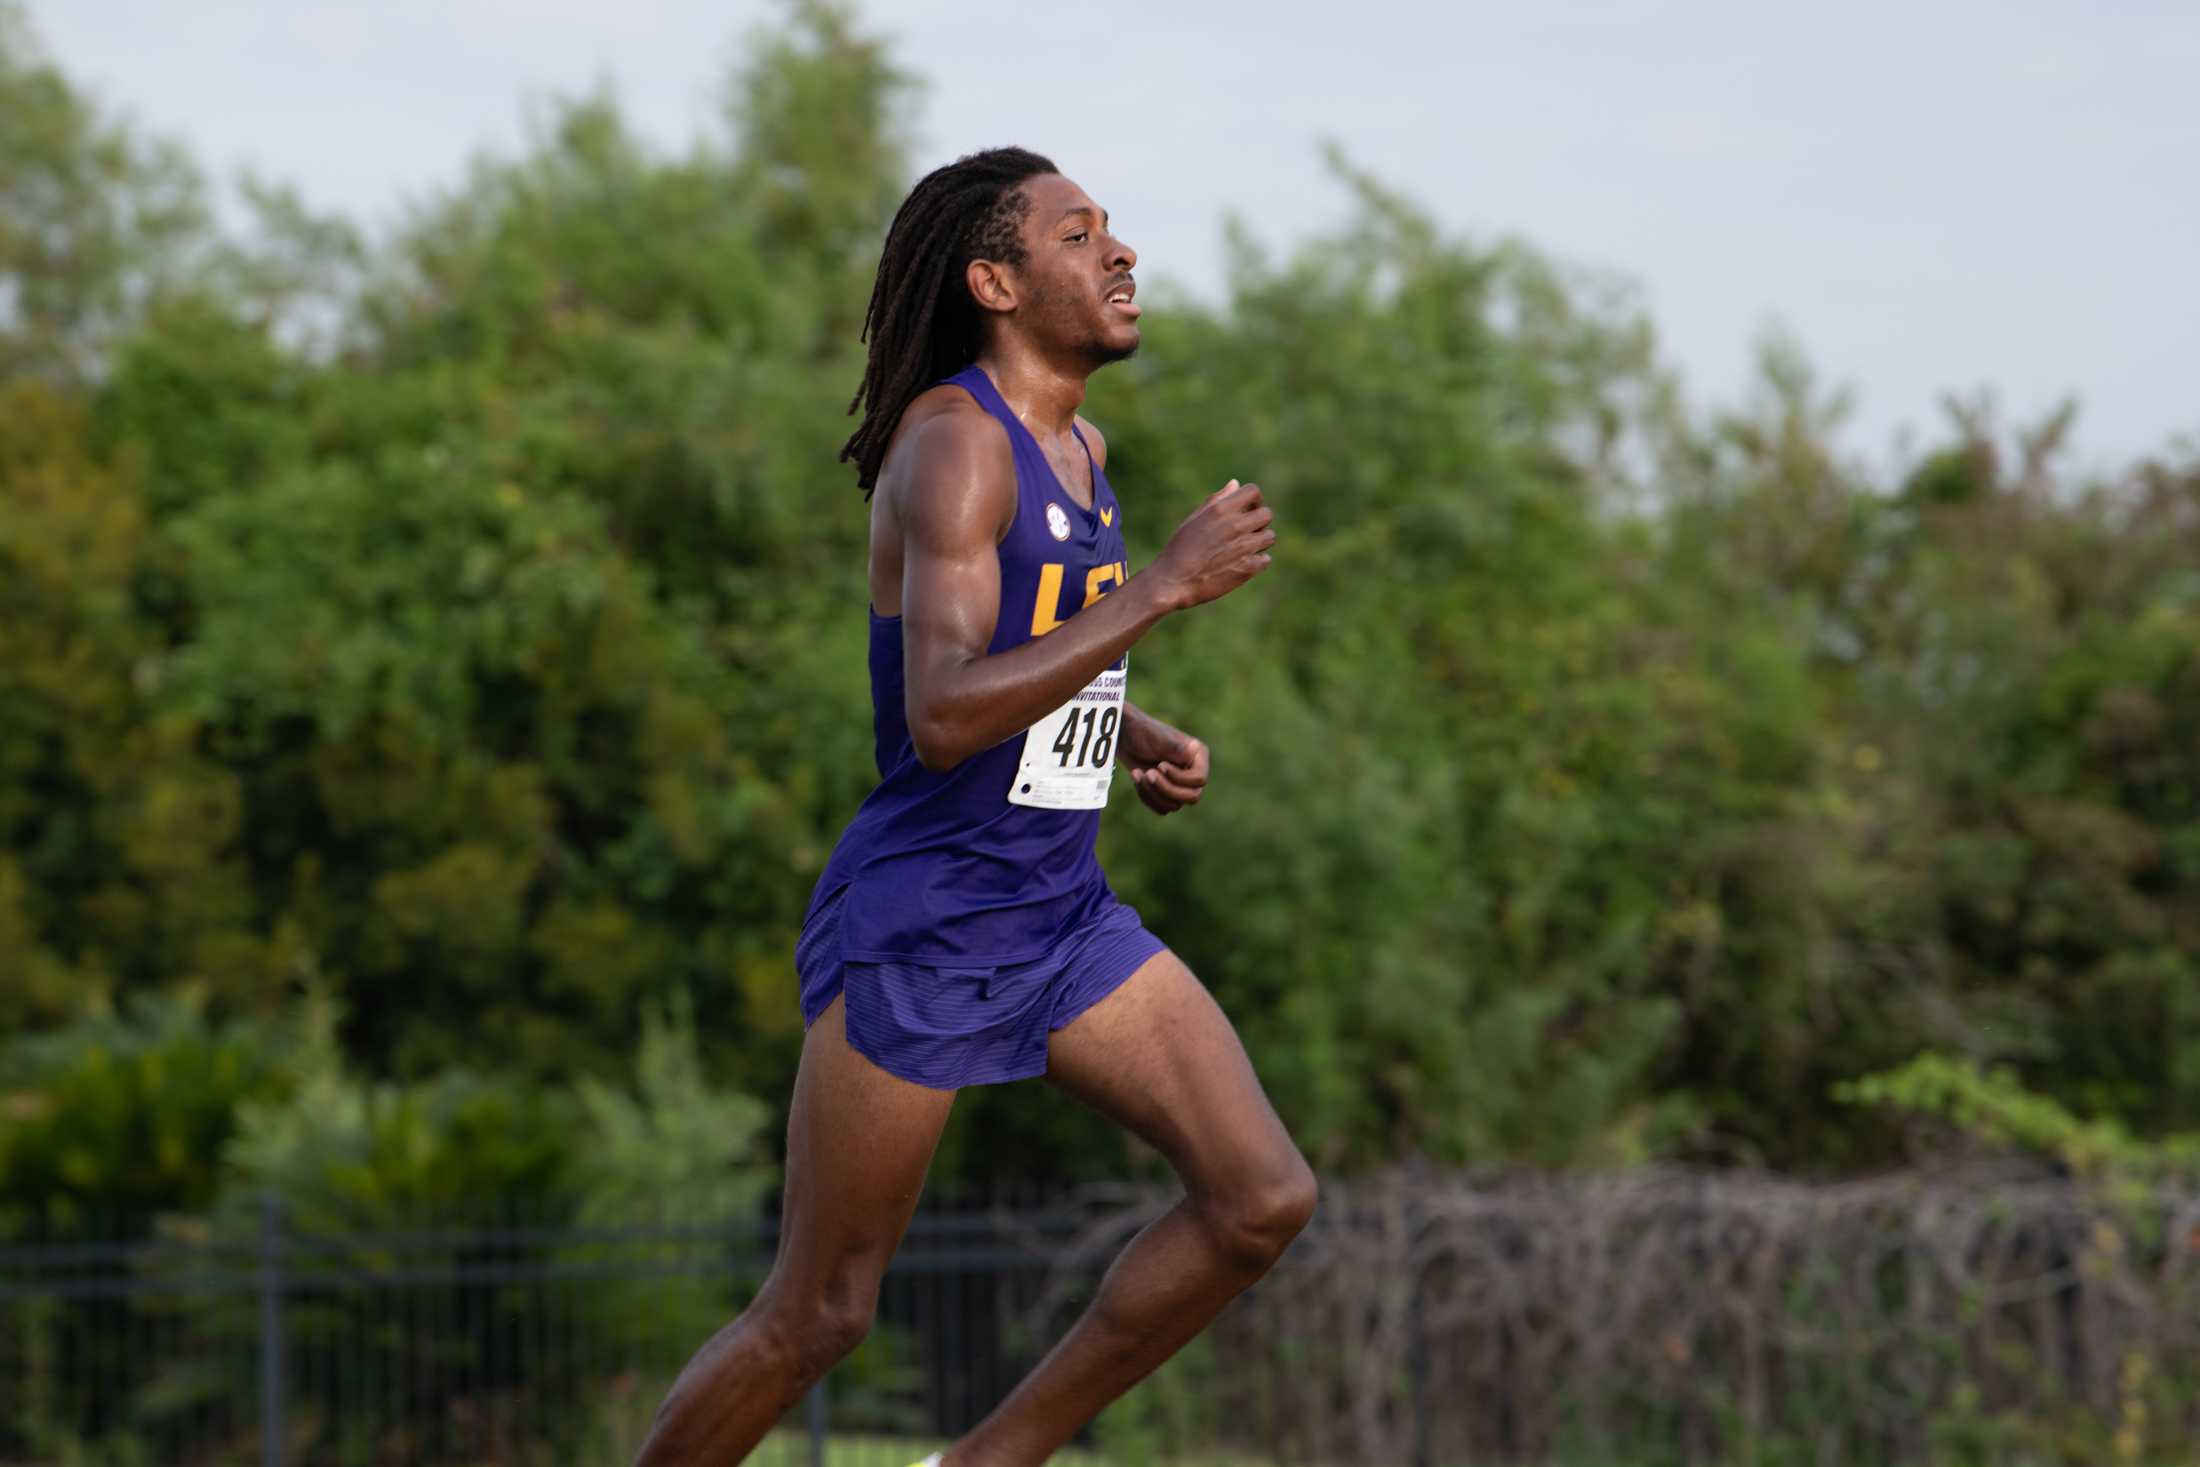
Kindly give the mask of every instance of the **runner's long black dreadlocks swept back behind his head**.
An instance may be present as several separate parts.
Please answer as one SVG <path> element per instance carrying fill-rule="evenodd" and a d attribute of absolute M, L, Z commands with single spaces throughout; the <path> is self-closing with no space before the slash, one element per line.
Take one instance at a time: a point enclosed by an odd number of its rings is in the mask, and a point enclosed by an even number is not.
<path fill-rule="evenodd" d="M 1023 264 L 1023 180 L 1058 172 L 1036 152 L 992 147 L 933 169 L 902 200 L 862 319 L 871 356 L 847 411 L 869 407 L 840 449 L 843 462 L 856 460 L 865 499 L 909 402 L 977 361 L 983 341 L 964 273 L 972 260 Z"/>

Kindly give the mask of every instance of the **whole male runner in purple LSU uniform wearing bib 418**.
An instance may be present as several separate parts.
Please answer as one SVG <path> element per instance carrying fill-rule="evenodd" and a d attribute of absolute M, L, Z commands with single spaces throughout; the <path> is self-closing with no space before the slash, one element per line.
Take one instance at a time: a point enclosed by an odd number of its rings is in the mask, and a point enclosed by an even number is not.
<path fill-rule="evenodd" d="M 955 1091 L 1045 1076 L 1151 1141 L 1186 1199 L 946 1467 L 1027 1467 L 1254 1282 L 1313 1174 L 1199 979 L 1093 856 L 1120 759 L 1159 814 L 1208 750 L 1124 699 L 1129 649 L 1267 567 L 1232 479 L 1129 574 L 1085 378 L 1137 350 L 1107 213 L 1045 158 L 972 154 L 887 233 L 854 457 L 871 497 L 880 785 L 796 946 L 801 1071 L 779 1260 L 689 1361 L 638 1467 L 739 1463 L 869 1331 Z M 876 493 L 873 493 L 876 490 Z"/>

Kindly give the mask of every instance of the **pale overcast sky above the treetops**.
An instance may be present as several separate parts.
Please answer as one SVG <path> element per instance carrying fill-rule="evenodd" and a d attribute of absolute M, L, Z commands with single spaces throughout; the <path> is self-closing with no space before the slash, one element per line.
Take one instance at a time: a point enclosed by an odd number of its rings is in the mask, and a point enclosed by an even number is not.
<path fill-rule="evenodd" d="M 609 79 L 667 147 L 715 128 L 730 0 L 29 0 L 62 66 L 220 174 L 387 222 Z M 1731 402 L 1778 319 L 1850 380 L 1857 451 L 1943 389 L 2083 402 L 2105 464 L 2200 433 L 2200 4 L 972 4 L 869 0 L 926 81 L 920 167 L 1052 154 L 1144 255 L 1221 282 L 1221 216 L 1335 222 L 1333 136 L 1448 227 L 1641 282 Z"/>

